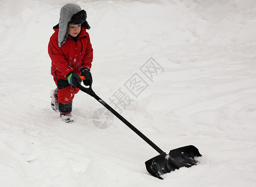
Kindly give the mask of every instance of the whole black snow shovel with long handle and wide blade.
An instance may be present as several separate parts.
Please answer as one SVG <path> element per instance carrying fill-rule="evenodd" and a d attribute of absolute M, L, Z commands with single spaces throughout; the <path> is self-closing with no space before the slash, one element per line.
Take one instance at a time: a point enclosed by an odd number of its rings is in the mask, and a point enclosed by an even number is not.
<path fill-rule="evenodd" d="M 83 76 L 81 76 L 81 79 L 86 80 Z M 92 90 L 91 85 L 89 87 L 83 87 L 82 85 L 79 85 L 79 89 L 82 90 L 82 92 L 85 92 L 96 98 L 96 100 L 100 102 L 104 107 L 106 107 L 107 110 L 116 115 L 119 120 L 124 122 L 131 130 L 137 133 L 140 138 L 145 140 L 150 146 L 152 146 L 152 148 L 154 148 L 160 154 L 145 162 L 145 167 L 152 176 L 155 176 L 162 180 L 163 178 L 160 175 L 170 173 L 171 171 L 174 171 L 181 167 L 189 168 L 191 166 L 197 165 L 198 161 L 195 160 L 195 157 L 202 155 L 199 153 L 199 150 L 195 146 L 183 146 L 174 150 L 170 150 L 169 154 L 166 154 L 157 145 L 155 145 L 155 143 L 149 140 L 149 138 L 145 137 L 143 133 L 137 130 L 137 128 L 135 128 L 130 122 L 128 122 L 124 117 L 117 113 L 116 110 L 114 110 L 111 106 L 104 102 L 104 100 L 97 96 L 96 93 Z"/>

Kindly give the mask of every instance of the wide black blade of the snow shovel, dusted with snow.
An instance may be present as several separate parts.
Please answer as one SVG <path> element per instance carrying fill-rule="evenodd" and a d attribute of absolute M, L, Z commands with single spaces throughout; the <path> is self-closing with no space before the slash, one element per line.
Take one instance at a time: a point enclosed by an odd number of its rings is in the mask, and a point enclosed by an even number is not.
<path fill-rule="evenodd" d="M 145 162 L 145 167 L 149 173 L 159 179 L 160 175 L 179 170 L 181 167 L 189 168 L 197 165 L 198 161 L 194 158 L 202 156 L 194 145 L 182 146 L 175 150 L 170 150 L 169 154 L 162 153 Z"/>

